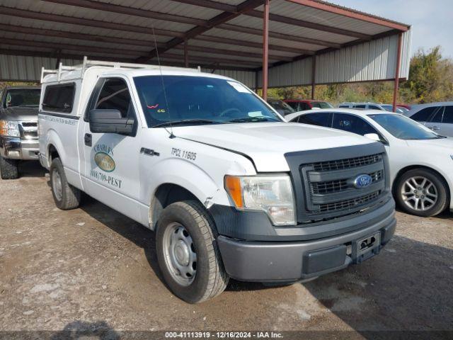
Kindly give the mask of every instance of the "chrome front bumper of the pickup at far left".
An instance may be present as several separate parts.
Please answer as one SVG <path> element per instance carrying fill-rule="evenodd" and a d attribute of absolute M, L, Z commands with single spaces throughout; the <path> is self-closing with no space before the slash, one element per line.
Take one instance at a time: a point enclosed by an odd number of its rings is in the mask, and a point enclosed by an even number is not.
<path fill-rule="evenodd" d="M 18 137 L 0 136 L 0 155 L 8 159 L 37 160 L 39 140 L 21 140 Z"/>

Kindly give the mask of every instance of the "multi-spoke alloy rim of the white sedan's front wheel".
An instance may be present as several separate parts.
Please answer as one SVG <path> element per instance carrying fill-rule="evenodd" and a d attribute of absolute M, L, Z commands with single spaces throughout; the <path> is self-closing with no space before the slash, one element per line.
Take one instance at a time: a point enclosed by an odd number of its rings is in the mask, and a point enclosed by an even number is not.
<path fill-rule="evenodd" d="M 423 176 L 413 176 L 403 183 L 401 198 L 409 208 L 426 211 L 437 203 L 439 194 L 432 181 Z"/>

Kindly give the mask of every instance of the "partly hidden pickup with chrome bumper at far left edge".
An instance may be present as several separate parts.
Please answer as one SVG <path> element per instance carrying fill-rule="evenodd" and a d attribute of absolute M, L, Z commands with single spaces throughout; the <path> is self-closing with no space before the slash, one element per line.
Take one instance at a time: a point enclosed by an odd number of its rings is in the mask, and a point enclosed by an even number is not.
<path fill-rule="evenodd" d="M 1 179 L 17 179 L 18 162 L 38 160 L 38 86 L 7 86 L 0 103 Z"/>

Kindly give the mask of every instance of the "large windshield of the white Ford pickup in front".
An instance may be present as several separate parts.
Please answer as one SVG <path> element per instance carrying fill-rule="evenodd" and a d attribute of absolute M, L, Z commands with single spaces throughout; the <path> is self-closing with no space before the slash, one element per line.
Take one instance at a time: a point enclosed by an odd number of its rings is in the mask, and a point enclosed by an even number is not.
<path fill-rule="evenodd" d="M 170 124 L 282 121 L 236 81 L 211 77 L 144 76 L 135 77 L 134 84 L 149 128 Z"/>

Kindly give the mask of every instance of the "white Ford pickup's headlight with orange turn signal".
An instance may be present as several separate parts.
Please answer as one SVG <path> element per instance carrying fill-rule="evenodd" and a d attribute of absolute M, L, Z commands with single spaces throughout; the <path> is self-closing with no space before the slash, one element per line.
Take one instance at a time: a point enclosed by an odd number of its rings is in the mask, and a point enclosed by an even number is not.
<path fill-rule="evenodd" d="M 295 225 L 294 195 L 287 174 L 225 176 L 225 189 L 239 210 L 261 210 L 273 225 Z"/>

